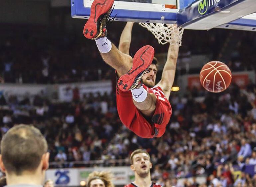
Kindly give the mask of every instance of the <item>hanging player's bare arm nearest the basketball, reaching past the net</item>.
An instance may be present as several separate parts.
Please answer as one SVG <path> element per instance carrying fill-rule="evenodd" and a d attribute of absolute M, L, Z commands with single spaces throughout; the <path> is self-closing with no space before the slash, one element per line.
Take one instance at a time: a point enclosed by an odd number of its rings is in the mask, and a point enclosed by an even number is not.
<path fill-rule="evenodd" d="M 166 96 L 169 99 L 171 89 L 174 82 L 176 63 L 178 58 L 179 45 L 178 44 L 170 44 L 167 53 L 167 61 L 164 65 L 162 78 L 157 84 L 160 86 Z"/>

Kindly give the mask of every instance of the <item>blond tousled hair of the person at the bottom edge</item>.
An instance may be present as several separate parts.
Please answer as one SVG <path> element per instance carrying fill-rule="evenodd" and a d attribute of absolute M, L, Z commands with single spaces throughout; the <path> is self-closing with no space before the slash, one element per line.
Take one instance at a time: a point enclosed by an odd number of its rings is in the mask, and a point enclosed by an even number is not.
<path fill-rule="evenodd" d="M 95 179 L 102 180 L 106 187 L 115 187 L 111 181 L 113 179 L 113 174 L 110 171 L 101 171 L 101 172 L 94 171 L 90 173 L 87 179 L 87 187 L 90 187 L 91 181 Z"/>

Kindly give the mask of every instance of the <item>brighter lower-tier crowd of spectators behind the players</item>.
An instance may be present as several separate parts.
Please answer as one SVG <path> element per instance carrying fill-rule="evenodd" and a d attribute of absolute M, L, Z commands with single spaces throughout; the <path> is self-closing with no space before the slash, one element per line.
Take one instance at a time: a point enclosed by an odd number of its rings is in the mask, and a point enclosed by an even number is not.
<path fill-rule="evenodd" d="M 130 153 L 144 148 L 154 165 L 152 179 L 163 186 L 192 176 L 206 176 L 214 187 L 256 186 L 254 169 L 246 170 L 256 164 L 256 85 L 240 89 L 233 84 L 219 94 L 173 92 L 170 102 L 166 133 L 143 139 L 122 125 L 114 94 L 84 95 L 70 103 L 2 95 L 0 130 L 4 134 L 15 123 L 35 125 L 48 141 L 54 168 L 94 166 L 98 160 L 101 166 L 129 165 Z"/>

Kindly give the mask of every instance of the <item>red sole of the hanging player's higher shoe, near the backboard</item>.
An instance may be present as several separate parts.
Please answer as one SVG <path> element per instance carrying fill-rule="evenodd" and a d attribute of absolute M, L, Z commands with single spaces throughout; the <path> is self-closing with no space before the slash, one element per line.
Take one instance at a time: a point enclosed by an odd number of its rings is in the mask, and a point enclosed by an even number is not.
<path fill-rule="evenodd" d="M 100 36 L 103 32 L 103 28 L 100 25 L 100 31 L 97 34 L 97 21 L 100 16 L 106 14 L 113 6 L 114 0 L 95 0 L 91 5 L 90 18 L 86 22 L 83 28 L 83 35 L 88 39 L 95 39 L 96 36 Z"/>

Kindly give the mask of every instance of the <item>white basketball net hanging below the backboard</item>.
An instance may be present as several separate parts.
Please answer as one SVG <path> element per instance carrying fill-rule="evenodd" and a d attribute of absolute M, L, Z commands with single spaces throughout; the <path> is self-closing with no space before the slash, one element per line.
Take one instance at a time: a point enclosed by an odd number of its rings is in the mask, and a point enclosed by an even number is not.
<path fill-rule="evenodd" d="M 171 45 L 178 44 L 181 46 L 182 34 L 184 29 L 177 27 L 176 24 L 165 23 L 139 23 L 144 28 L 147 28 L 162 45 L 170 43 Z"/>

